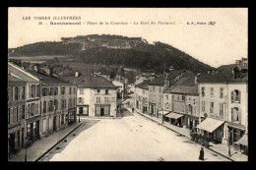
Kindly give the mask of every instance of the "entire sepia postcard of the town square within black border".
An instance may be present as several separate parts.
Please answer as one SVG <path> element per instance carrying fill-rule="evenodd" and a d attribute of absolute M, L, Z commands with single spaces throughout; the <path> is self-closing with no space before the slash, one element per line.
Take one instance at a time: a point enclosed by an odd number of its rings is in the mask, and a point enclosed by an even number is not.
<path fill-rule="evenodd" d="M 8 8 L 9 162 L 247 162 L 248 8 Z"/>

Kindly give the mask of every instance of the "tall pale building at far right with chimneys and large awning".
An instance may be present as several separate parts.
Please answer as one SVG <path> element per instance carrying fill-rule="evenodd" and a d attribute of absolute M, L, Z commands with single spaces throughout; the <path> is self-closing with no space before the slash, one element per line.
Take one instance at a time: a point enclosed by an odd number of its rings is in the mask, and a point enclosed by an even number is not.
<path fill-rule="evenodd" d="M 247 132 L 248 75 L 243 71 L 234 72 L 237 66 L 226 68 L 219 74 L 199 78 L 202 123 L 197 128 L 215 142 L 232 144 Z"/>

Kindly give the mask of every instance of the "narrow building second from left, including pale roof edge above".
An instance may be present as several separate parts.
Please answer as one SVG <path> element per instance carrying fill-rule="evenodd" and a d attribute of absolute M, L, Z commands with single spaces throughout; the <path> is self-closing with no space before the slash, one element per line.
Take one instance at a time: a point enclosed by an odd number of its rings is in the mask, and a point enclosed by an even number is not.
<path fill-rule="evenodd" d="M 40 139 L 40 85 L 39 79 L 32 74 L 24 71 L 20 67 L 8 62 L 8 72 L 19 79 L 27 82 L 26 84 L 26 107 L 25 119 L 26 129 L 25 137 L 28 142 L 34 142 Z"/>

